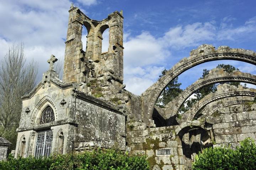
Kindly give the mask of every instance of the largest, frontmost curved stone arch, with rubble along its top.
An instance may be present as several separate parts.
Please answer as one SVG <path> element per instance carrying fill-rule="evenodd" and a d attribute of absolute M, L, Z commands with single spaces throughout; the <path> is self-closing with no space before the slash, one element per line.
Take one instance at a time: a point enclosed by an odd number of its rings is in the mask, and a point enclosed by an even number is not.
<path fill-rule="evenodd" d="M 207 44 L 192 50 L 190 57 L 183 58 L 168 70 L 165 76 L 142 93 L 144 119 L 151 119 L 149 116 L 153 112 L 156 100 L 170 81 L 196 65 L 215 60 L 238 60 L 256 65 L 256 53 L 244 49 L 230 49 L 228 46 L 220 46 L 215 50 L 214 46 Z"/>

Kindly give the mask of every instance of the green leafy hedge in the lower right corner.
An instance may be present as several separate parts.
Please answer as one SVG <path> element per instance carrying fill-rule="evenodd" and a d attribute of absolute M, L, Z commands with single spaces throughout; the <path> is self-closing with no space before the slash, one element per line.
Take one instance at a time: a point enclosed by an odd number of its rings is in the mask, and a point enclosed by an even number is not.
<path fill-rule="evenodd" d="M 256 170 L 256 145 L 247 138 L 235 150 L 230 147 L 204 149 L 197 155 L 193 170 Z"/>

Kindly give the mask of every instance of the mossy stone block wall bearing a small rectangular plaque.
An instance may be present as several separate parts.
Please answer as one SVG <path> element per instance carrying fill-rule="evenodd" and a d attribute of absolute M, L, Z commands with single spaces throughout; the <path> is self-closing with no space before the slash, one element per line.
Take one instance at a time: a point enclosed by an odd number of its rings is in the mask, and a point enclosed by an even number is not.
<path fill-rule="evenodd" d="M 133 154 L 147 154 L 151 169 L 183 170 L 182 144 L 176 126 L 146 128 L 141 121 L 127 123 L 127 142 Z"/>

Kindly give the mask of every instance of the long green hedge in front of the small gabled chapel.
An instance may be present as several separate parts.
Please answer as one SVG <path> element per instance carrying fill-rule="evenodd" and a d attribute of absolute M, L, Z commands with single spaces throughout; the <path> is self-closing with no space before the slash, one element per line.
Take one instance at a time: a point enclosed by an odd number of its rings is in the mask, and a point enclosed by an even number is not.
<path fill-rule="evenodd" d="M 49 158 L 17 158 L 0 161 L 1 170 L 149 170 L 145 155 L 129 155 L 114 149 L 53 154 Z"/>

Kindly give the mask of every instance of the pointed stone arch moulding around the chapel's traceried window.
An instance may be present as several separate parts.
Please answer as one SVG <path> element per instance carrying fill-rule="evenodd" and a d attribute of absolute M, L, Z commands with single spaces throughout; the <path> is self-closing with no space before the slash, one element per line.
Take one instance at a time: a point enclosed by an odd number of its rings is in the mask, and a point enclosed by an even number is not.
<path fill-rule="evenodd" d="M 37 103 L 36 107 L 34 108 L 30 117 L 30 126 L 36 125 L 38 123 L 38 119 L 40 119 L 44 108 L 46 108 L 47 106 L 50 106 L 53 109 L 55 121 L 58 120 L 56 104 L 54 103 L 53 99 L 45 96 Z"/>

